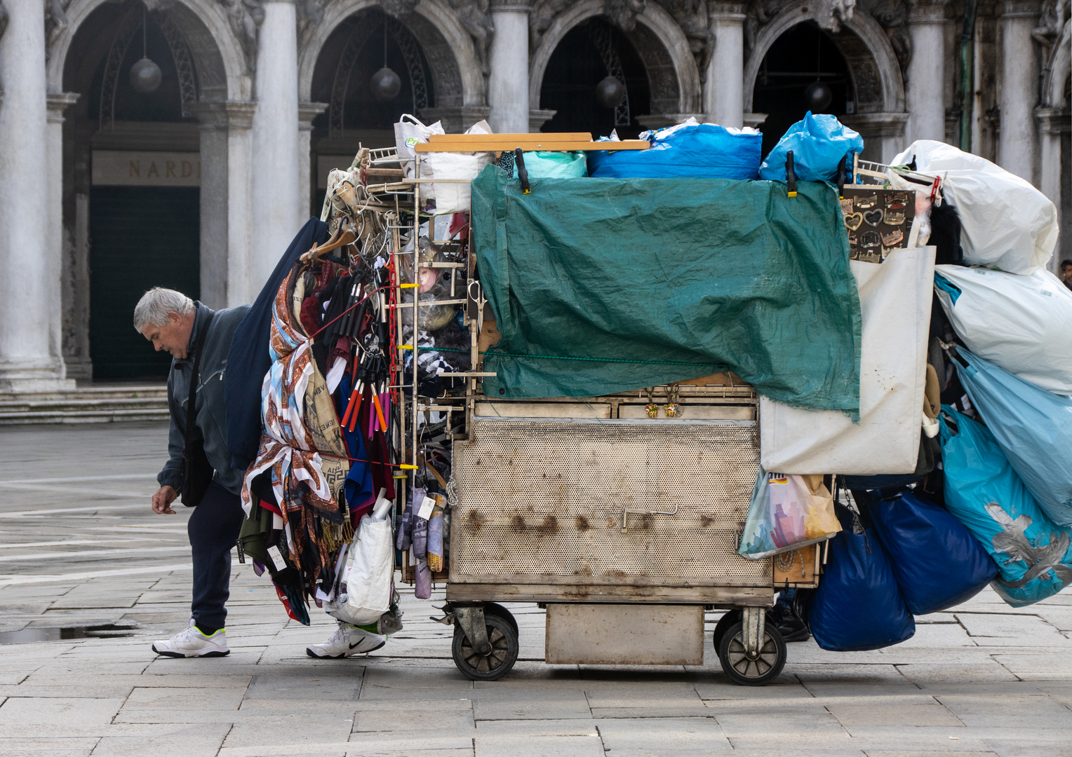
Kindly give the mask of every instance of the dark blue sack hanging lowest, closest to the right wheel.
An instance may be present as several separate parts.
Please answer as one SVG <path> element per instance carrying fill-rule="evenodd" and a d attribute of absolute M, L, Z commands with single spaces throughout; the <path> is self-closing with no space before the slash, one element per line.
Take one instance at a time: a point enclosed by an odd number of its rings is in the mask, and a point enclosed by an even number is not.
<path fill-rule="evenodd" d="M 807 607 L 816 642 L 833 652 L 881 649 L 915 633 L 890 557 L 873 529 L 852 532 L 852 513 L 838 508 L 842 531 L 830 540 L 825 573 Z"/>

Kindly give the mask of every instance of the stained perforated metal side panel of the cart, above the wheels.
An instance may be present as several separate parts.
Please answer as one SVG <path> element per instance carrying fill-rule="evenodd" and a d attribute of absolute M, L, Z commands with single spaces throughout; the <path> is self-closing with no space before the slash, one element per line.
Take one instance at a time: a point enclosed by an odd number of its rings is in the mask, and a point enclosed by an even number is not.
<path fill-rule="evenodd" d="M 475 417 L 471 430 L 455 444 L 452 582 L 771 586 L 769 560 L 736 554 L 754 422 Z M 626 510 L 645 513 L 623 532 Z"/>

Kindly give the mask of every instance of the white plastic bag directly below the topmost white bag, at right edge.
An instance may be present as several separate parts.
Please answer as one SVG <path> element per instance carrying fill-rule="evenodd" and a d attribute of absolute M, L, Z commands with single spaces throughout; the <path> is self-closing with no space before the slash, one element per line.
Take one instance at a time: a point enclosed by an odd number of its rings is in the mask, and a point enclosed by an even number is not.
<path fill-rule="evenodd" d="M 1040 389 L 1072 394 L 1072 291 L 1057 276 L 961 266 L 935 266 L 935 274 L 938 301 L 968 349 Z"/>

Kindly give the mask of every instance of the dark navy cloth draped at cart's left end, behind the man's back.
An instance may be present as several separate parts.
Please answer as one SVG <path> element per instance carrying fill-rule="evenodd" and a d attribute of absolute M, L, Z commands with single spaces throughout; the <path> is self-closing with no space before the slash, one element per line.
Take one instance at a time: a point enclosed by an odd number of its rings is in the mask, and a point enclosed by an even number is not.
<path fill-rule="evenodd" d="M 327 241 L 328 225 L 310 218 L 280 258 L 249 314 L 235 331 L 227 355 L 227 446 L 230 465 L 245 474 L 260 445 L 260 384 L 271 367 L 268 339 L 271 307 L 280 284 L 299 257 L 314 244 Z"/>

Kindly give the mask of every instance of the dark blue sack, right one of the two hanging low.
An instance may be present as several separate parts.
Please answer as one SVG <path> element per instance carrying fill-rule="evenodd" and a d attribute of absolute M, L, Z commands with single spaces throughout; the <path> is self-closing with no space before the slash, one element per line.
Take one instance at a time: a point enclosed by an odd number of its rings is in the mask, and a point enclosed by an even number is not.
<path fill-rule="evenodd" d="M 998 565 L 964 524 L 906 491 L 868 503 L 867 514 L 893 562 L 905 604 L 927 615 L 967 602 L 998 574 Z"/>

